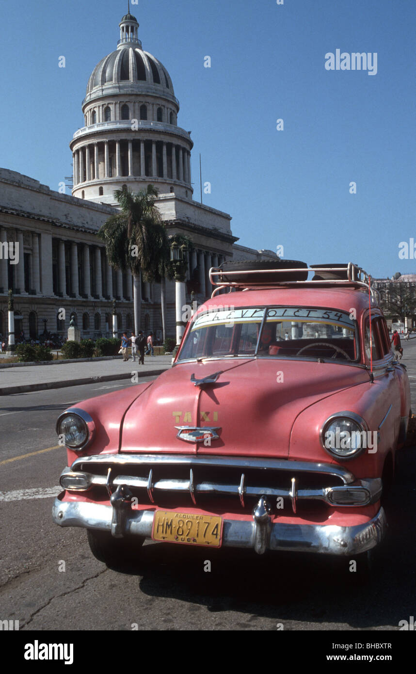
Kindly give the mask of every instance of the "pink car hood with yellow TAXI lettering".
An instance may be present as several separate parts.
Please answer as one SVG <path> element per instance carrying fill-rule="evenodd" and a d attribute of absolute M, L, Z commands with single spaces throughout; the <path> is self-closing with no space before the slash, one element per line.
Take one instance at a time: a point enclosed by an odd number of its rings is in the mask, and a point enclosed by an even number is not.
<path fill-rule="evenodd" d="M 215 384 L 191 381 L 191 375 L 202 379 L 218 371 Z M 316 361 L 181 363 L 160 375 L 127 410 L 121 452 L 286 458 L 293 423 L 307 406 L 368 380 L 360 367 Z M 217 427 L 219 437 L 207 446 L 184 441 L 177 437 L 177 426 Z"/>

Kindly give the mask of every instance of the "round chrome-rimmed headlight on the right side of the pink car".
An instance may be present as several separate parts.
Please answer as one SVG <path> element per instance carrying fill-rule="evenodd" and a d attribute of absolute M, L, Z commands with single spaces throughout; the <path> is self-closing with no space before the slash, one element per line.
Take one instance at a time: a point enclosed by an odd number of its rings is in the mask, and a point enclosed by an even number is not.
<path fill-rule="evenodd" d="M 368 427 L 355 412 L 338 412 L 324 423 L 321 441 L 324 450 L 336 459 L 359 456 L 367 447 Z"/>

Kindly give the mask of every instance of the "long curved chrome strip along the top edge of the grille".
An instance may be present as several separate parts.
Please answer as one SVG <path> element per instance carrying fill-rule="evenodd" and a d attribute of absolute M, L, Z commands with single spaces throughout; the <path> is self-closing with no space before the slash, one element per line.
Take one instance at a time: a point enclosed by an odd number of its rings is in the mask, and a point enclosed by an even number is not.
<path fill-rule="evenodd" d="M 297 470 L 329 474 L 339 477 L 345 485 L 355 481 L 353 473 L 343 466 L 335 464 L 314 463 L 307 461 L 291 461 L 288 459 L 274 458 L 251 458 L 249 456 L 217 456 L 212 454 L 140 454 L 140 452 L 131 452 L 127 454 L 90 454 L 89 456 L 79 456 L 73 462 L 71 470 L 79 470 L 83 464 L 113 464 L 114 466 L 142 466 L 150 465 L 177 465 L 177 466 L 218 466 L 222 468 L 268 468 L 270 470 L 284 470 L 293 472 Z M 89 468 L 88 468 L 89 469 Z"/>

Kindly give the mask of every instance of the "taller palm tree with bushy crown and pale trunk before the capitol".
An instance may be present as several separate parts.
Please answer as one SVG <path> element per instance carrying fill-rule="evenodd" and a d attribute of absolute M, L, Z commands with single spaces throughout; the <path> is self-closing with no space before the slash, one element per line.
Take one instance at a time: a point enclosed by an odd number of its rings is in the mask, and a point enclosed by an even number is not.
<path fill-rule="evenodd" d="M 114 197 L 120 212 L 110 216 L 98 231 L 105 241 L 107 259 L 115 269 L 133 274 L 134 325 L 140 328 L 140 272 L 146 282 L 156 279 L 161 261 L 169 255 L 167 233 L 155 205 L 154 185 L 136 194 L 127 187 L 116 189 Z"/>

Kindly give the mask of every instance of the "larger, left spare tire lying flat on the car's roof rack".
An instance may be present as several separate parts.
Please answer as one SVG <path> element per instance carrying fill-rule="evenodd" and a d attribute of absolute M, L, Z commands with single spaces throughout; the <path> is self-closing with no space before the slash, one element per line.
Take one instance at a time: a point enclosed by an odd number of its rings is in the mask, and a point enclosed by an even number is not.
<path fill-rule="evenodd" d="M 274 284 L 281 281 L 305 281 L 307 280 L 307 264 L 299 262 L 297 259 L 263 259 L 259 262 L 241 259 L 230 260 L 230 262 L 223 262 L 220 265 L 222 272 L 222 280 L 228 283 L 247 283 L 247 285 L 256 283 L 270 283 Z M 281 272 L 280 274 L 247 274 L 246 272 L 266 271 L 274 269 L 294 269 L 294 272 Z M 227 276 L 227 272 L 240 272 Z M 216 277 L 218 278 L 218 277 Z"/>

